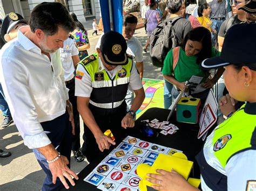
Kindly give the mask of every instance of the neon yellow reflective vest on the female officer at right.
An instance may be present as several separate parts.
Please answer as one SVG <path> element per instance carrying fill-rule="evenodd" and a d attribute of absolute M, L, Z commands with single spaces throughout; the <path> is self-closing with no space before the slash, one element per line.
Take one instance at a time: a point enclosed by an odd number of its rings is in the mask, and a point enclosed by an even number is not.
<path fill-rule="evenodd" d="M 197 155 L 203 190 L 227 190 L 227 162 L 235 154 L 256 150 L 256 115 L 247 114 L 244 108 L 242 105 L 221 123 L 207 137 L 203 150 Z"/>

